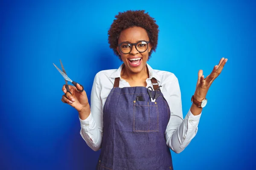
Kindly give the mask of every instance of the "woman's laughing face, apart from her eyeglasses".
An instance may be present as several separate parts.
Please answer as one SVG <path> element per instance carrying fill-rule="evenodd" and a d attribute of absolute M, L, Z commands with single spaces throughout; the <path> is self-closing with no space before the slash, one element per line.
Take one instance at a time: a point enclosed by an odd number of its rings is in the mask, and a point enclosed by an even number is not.
<path fill-rule="evenodd" d="M 141 27 L 131 27 L 123 30 L 118 39 L 118 44 L 122 42 L 137 43 L 139 41 L 149 41 L 147 31 Z M 151 45 L 148 43 L 148 48 L 143 53 L 137 51 L 135 45 L 132 45 L 131 52 L 128 54 L 122 53 L 119 47 L 116 47 L 122 61 L 125 64 L 127 71 L 132 73 L 140 73 L 145 69 L 146 62 L 148 61 L 148 53 L 151 50 Z"/>

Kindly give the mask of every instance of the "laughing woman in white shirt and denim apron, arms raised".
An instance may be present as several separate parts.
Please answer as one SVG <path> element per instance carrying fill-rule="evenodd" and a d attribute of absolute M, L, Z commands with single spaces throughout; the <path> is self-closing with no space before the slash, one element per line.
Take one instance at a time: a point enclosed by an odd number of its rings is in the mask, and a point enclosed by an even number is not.
<path fill-rule="evenodd" d="M 147 64 L 157 48 L 158 31 L 145 11 L 119 13 L 108 41 L 123 64 L 96 74 L 91 107 L 85 91 L 76 90 L 82 89 L 79 84 L 70 86 L 72 95 L 62 88 L 62 102 L 79 112 L 82 138 L 93 150 L 101 149 L 99 170 L 173 169 L 169 148 L 180 153 L 197 133 L 207 91 L 227 59 L 206 78 L 198 72 L 192 106 L 183 119 L 177 78 Z"/>

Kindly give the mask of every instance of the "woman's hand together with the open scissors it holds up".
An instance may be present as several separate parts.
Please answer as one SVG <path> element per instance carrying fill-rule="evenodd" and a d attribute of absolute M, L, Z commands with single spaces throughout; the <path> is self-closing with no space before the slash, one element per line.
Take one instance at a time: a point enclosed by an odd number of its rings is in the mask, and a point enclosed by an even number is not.
<path fill-rule="evenodd" d="M 79 83 L 72 81 L 69 77 L 67 77 L 67 73 L 62 65 L 62 62 L 61 62 L 62 71 L 55 64 L 53 65 L 61 73 L 61 75 L 64 77 L 66 82 L 66 84 L 62 87 L 62 91 L 65 94 L 62 96 L 61 101 L 73 106 L 74 108 L 76 108 L 77 111 L 81 111 L 83 108 L 86 108 L 89 105 L 89 103 L 88 103 L 87 95 L 84 91 L 84 87 Z M 70 81 L 75 86 L 68 85 L 67 84 L 68 81 Z"/>

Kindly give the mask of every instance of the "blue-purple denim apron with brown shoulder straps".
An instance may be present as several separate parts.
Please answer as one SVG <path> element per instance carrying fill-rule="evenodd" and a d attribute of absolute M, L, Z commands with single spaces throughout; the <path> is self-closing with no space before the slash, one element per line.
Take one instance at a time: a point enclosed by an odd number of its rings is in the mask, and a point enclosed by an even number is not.
<path fill-rule="evenodd" d="M 166 99 L 160 93 L 151 102 L 147 88 L 119 88 L 119 79 L 103 108 L 102 148 L 96 169 L 172 170 L 172 156 L 165 140 L 170 119 Z M 154 97 L 155 91 L 152 93 Z M 145 101 L 137 101 L 137 96 L 143 96 Z"/>

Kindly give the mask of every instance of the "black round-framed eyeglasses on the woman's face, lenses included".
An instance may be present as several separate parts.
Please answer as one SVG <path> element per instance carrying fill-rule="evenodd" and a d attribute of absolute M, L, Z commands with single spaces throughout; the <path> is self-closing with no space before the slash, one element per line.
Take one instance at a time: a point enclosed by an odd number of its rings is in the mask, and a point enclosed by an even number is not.
<path fill-rule="evenodd" d="M 135 45 L 135 48 L 140 53 L 145 52 L 148 49 L 148 43 L 149 41 L 139 41 L 137 43 L 129 43 L 129 42 L 122 42 L 121 44 L 118 44 L 119 50 L 123 54 L 129 54 L 131 52 L 131 48 L 133 45 Z"/>

